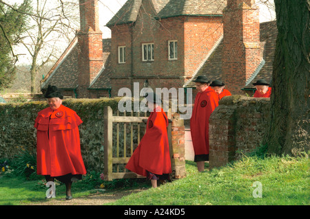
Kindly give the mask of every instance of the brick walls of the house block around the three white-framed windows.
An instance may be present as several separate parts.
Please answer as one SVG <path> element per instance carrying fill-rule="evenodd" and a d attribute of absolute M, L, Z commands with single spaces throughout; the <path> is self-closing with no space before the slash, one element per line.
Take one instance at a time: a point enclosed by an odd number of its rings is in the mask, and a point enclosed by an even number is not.
<path fill-rule="evenodd" d="M 129 3 L 130 1 L 127 1 Z M 221 16 L 186 16 L 189 12 L 218 13 L 212 8 L 206 10 L 207 5 L 201 1 L 204 10 L 195 10 L 193 3 L 183 1 L 169 1 L 165 4 L 159 1 L 141 1 L 138 11 L 128 8 L 127 12 L 135 12 L 136 20 L 127 24 L 112 25 L 112 19 L 108 25 L 112 30 L 112 71 L 111 78 L 112 95 L 117 95 L 118 89 L 128 87 L 132 89 L 133 82 L 143 82 L 148 79 L 150 86 L 156 87 L 183 87 L 185 82 L 192 78 L 199 65 L 205 60 L 214 43 L 223 35 Z M 209 1 L 208 1 L 209 2 Z M 198 3 L 198 1 L 195 1 Z M 176 10 L 169 14 L 169 8 L 176 6 Z M 182 6 L 183 5 L 183 6 Z M 137 5 L 135 5 L 136 7 Z M 183 7 L 183 8 L 182 8 Z M 160 10 L 162 8 L 162 10 Z M 182 8 L 182 9 L 181 9 Z M 196 7 L 197 8 L 197 7 Z M 159 12 L 158 12 L 159 10 Z M 178 12 L 183 11 L 181 16 Z M 158 12 L 158 13 L 157 13 Z M 122 8 L 117 16 L 125 17 L 125 9 Z M 159 15 L 167 16 L 159 19 Z M 130 17 L 130 16 L 127 16 Z M 178 58 L 169 60 L 168 42 L 177 41 Z M 154 43 L 154 60 L 143 61 L 143 43 Z M 126 62 L 118 63 L 118 46 L 126 47 Z"/>

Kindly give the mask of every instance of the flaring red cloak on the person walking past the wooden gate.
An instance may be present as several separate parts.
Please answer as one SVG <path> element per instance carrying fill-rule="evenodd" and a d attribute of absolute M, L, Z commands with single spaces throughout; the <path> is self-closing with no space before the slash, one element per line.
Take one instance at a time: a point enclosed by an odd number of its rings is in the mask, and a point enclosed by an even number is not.
<path fill-rule="evenodd" d="M 161 107 L 156 111 L 149 115 L 145 135 L 125 166 L 141 176 L 147 176 L 147 171 L 158 175 L 172 172 L 167 115 Z"/>

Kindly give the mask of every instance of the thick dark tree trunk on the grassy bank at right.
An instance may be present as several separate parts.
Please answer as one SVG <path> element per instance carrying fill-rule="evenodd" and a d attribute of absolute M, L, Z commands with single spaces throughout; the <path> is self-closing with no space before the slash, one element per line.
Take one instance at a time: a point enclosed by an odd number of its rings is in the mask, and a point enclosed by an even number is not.
<path fill-rule="evenodd" d="M 309 0 L 275 0 L 278 38 L 273 62 L 271 154 L 309 152 Z"/>

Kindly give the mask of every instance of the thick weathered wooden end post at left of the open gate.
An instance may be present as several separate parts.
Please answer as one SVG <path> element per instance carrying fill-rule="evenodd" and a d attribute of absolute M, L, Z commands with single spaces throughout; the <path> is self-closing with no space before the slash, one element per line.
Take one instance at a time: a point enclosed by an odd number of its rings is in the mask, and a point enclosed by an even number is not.
<path fill-rule="evenodd" d="M 105 180 L 112 181 L 112 119 L 113 112 L 110 106 L 105 106 L 104 108 L 104 123 L 105 123 L 105 135 L 104 135 L 104 174 Z"/>

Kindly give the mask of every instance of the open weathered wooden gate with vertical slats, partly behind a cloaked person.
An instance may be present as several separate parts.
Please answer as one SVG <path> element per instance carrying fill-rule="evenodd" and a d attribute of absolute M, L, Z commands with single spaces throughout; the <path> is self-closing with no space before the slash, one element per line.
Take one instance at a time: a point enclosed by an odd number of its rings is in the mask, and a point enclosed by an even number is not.
<path fill-rule="evenodd" d="M 169 110 L 167 113 L 169 119 L 167 133 L 171 153 L 172 126 L 170 112 Z M 105 107 L 104 174 L 106 181 L 112 181 L 114 178 L 144 177 L 125 169 L 125 164 L 129 161 L 134 149 L 138 146 L 145 133 L 145 124 L 148 117 L 146 113 L 143 113 L 143 116 L 140 116 L 140 113 L 136 113 L 135 116 L 133 112 L 130 114 L 130 116 L 127 116 L 126 113 L 123 113 L 123 116 L 120 116 L 119 111 L 117 111 L 116 115 L 113 115 L 112 108 L 110 106 Z M 121 131 L 121 126 L 123 126 L 123 131 Z M 136 126 L 135 131 L 134 126 Z M 121 135 L 123 135 L 122 139 L 120 138 Z M 136 142 L 134 142 L 134 139 L 136 139 Z M 127 145 L 127 142 L 130 142 L 129 145 Z"/>

